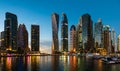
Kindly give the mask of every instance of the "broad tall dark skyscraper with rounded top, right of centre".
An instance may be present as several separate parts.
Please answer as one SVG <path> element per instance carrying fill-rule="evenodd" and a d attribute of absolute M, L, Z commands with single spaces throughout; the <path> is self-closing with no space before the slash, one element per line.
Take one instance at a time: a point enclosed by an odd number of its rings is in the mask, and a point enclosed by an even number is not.
<path fill-rule="evenodd" d="M 89 51 L 93 48 L 93 24 L 91 16 L 89 14 L 84 14 L 80 20 L 82 24 L 83 49 Z"/>

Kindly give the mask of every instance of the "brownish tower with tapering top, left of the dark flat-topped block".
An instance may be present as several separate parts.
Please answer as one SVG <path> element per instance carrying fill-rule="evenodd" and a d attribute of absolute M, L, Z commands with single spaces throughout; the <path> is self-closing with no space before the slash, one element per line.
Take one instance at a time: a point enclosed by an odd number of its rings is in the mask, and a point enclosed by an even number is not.
<path fill-rule="evenodd" d="M 28 32 L 24 24 L 20 24 L 18 28 L 18 49 L 24 51 L 28 48 Z M 18 51 L 19 51 L 18 50 Z"/>

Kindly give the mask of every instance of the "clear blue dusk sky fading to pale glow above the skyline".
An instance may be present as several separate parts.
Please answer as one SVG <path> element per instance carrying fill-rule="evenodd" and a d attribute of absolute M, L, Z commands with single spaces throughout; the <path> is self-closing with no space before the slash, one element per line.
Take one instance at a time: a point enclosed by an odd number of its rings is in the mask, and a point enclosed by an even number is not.
<path fill-rule="evenodd" d="M 60 16 L 59 26 L 61 26 L 62 13 L 66 13 L 69 30 L 71 25 L 77 25 L 80 16 L 89 13 L 93 24 L 101 18 L 104 25 L 114 28 L 117 36 L 120 34 L 120 0 L 0 0 L 0 32 L 4 30 L 6 12 L 16 14 L 18 23 L 26 25 L 29 42 L 31 24 L 39 24 L 40 47 L 42 51 L 48 53 L 51 52 L 52 44 L 51 14 L 53 12 Z"/>

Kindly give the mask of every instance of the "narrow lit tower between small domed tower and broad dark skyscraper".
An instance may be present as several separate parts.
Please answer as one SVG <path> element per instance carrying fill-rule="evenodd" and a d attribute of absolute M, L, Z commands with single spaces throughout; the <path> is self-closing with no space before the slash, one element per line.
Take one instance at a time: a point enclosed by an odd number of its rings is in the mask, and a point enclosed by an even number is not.
<path fill-rule="evenodd" d="M 78 25 L 76 26 L 76 51 L 79 52 L 82 48 L 82 24 L 80 24 L 80 20 Z"/>

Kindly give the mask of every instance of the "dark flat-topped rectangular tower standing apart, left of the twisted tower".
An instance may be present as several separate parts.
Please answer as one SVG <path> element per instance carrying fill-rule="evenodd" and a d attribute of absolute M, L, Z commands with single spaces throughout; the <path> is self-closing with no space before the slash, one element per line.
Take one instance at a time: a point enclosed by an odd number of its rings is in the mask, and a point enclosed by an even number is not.
<path fill-rule="evenodd" d="M 39 25 L 31 25 L 31 50 L 39 51 Z"/>

